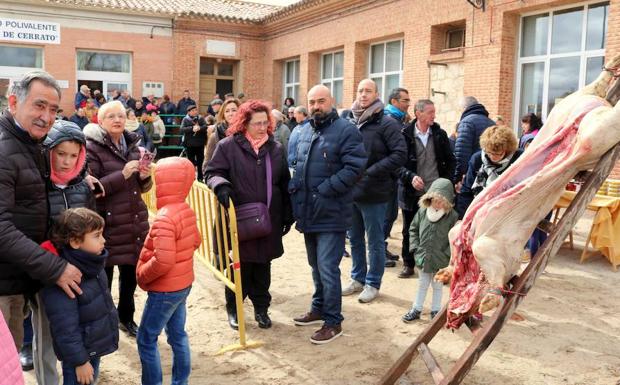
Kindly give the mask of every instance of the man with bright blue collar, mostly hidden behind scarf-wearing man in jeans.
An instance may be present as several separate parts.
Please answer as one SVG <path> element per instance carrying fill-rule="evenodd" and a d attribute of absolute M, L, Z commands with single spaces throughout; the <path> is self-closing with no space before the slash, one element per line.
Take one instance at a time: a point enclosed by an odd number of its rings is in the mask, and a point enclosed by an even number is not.
<path fill-rule="evenodd" d="M 394 88 L 390 95 L 388 96 L 389 103 L 385 106 L 383 113 L 387 116 L 391 116 L 396 121 L 402 124 L 402 128 L 406 127 L 406 124 L 409 123 L 410 117 L 407 113 L 409 109 L 409 105 L 411 104 L 411 99 L 409 98 L 409 91 L 404 88 Z M 404 138 L 403 138 L 404 140 Z M 392 197 L 388 201 L 388 206 L 385 211 L 385 222 L 383 223 L 383 232 L 384 232 L 384 240 L 385 240 L 385 267 L 394 267 L 396 266 L 396 261 L 398 261 L 398 254 L 393 254 L 388 250 L 387 247 L 387 239 L 390 237 L 390 233 L 392 232 L 392 226 L 394 225 L 394 221 L 398 218 L 398 189 L 396 187 L 397 177 L 394 175 L 393 180 L 393 188 L 392 188 Z"/>

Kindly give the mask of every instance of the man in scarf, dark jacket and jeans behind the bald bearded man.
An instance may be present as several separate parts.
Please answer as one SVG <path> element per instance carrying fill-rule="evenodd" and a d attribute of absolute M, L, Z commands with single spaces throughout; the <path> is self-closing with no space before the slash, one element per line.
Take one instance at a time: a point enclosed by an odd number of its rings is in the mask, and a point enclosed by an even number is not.
<path fill-rule="evenodd" d="M 360 302 L 375 299 L 385 270 L 383 224 L 387 202 L 396 186 L 392 175 L 403 164 L 407 148 L 400 134 L 400 123 L 384 115 L 377 85 L 364 79 L 357 87 L 357 99 L 348 119 L 360 130 L 368 155 L 366 171 L 353 188 L 353 225 L 351 227 L 351 281 L 342 295 L 361 291 Z M 368 237 L 366 265 L 365 235 Z"/>

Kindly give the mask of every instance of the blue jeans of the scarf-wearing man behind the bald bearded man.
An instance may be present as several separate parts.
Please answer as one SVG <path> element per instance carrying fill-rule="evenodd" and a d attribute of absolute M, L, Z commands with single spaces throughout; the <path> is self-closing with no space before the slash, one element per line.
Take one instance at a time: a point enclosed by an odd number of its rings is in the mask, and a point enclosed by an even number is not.
<path fill-rule="evenodd" d="M 385 270 L 385 244 L 383 223 L 386 203 L 353 204 L 353 224 L 351 226 L 351 259 L 353 267 L 351 278 L 379 289 Z M 368 267 L 366 266 L 366 242 L 368 236 Z"/>

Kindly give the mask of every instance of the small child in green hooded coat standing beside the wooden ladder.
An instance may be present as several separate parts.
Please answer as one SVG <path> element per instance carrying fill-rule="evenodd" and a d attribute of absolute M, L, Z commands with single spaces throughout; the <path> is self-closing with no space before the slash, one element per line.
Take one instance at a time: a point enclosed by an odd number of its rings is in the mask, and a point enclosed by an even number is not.
<path fill-rule="evenodd" d="M 429 285 L 433 287 L 431 319 L 441 309 L 443 283 L 434 281 L 433 276 L 450 262 L 448 232 L 458 220 L 458 213 L 452 208 L 454 187 L 447 179 L 434 181 L 428 192 L 420 197 L 418 204 L 420 210 L 409 228 L 409 244 L 420 278 L 413 307 L 402 317 L 404 322 L 420 319 Z"/>

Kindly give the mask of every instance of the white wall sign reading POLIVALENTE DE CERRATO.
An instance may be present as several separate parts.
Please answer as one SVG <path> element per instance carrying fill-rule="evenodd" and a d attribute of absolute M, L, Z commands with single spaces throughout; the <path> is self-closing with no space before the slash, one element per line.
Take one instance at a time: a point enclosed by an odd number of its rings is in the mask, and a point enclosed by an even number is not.
<path fill-rule="evenodd" d="M 0 40 L 60 44 L 60 24 L 0 18 Z"/>

